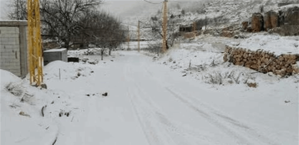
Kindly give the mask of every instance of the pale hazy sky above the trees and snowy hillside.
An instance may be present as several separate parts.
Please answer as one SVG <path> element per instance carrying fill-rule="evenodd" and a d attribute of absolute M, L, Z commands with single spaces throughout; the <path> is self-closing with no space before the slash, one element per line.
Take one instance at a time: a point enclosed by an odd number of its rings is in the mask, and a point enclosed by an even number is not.
<path fill-rule="evenodd" d="M 9 7 L 7 7 L 7 4 L 9 4 L 11 0 L 0 0 L 0 19 L 7 19 L 6 14 L 9 10 Z M 149 0 L 153 2 L 161 2 L 163 0 Z M 143 0 L 104 0 L 104 4 L 100 5 L 101 10 L 108 11 L 110 14 L 113 14 L 115 16 L 126 16 L 129 13 L 129 15 L 132 15 L 132 9 L 135 9 L 139 6 L 147 5 L 146 1 Z M 136 13 L 137 14 L 137 13 Z"/>

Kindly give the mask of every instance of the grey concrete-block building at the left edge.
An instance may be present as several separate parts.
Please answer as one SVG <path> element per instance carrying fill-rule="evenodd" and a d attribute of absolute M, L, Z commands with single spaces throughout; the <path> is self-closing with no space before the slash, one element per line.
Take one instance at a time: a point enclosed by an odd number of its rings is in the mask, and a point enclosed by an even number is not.
<path fill-rule="evenodd" d="M 0 69 L 27 75 L 27 21 L 0 21 Z"/>

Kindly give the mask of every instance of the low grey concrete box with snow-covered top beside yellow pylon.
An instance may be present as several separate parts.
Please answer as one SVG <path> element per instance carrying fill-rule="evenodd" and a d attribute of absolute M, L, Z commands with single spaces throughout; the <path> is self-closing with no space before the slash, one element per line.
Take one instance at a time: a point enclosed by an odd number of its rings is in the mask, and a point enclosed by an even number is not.
<path fill-rule="evenodd" d="M 65 48 L 62 49 L 50 49 L 44 51 L 44 65 L 52 61 L 65 61 L 68 62 L 68 50 Z"/>

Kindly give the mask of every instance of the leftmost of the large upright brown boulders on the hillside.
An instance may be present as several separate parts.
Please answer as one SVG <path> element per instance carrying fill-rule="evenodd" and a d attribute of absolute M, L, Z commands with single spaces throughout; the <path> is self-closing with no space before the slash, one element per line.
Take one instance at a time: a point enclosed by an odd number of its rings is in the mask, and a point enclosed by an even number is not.
<path fill-rule="evenodd" d="M 253 13 L 251 17 L 252 32 L 260 32 L 264 30 L 264 17 L 261 13 Z"/>

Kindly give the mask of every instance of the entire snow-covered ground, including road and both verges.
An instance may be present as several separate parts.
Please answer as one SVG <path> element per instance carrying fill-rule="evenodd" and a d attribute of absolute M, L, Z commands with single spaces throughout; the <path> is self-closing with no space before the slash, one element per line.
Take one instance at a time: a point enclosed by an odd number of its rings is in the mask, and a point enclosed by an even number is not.
<path fill-rule="evenodd" d="M 224 63 L 221 48 L 181 43 L 161 58 L 114 51 L 95 65 L 54 61 L 44 67 L 47 89 L 1 70 L 1 145 L 298 144 L 299 75 L 250 74 Z M 100 60 L 82 53 L 69 51 Z"/>

